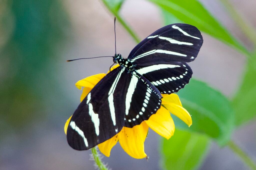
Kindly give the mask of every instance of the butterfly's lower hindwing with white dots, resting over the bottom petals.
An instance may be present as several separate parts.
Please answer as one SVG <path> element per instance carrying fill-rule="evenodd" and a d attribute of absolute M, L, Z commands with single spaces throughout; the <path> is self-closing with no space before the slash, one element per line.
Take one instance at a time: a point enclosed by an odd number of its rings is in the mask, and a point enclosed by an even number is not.
<path fill-rule="evenodd" d="M 125 127 L 133 127 L 148 120 L 162 103 L 160 91 L 142 75 L 130 72 L 129 82 L 125 89 Z"/>

